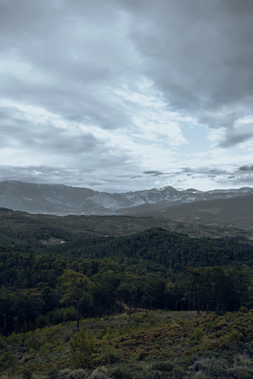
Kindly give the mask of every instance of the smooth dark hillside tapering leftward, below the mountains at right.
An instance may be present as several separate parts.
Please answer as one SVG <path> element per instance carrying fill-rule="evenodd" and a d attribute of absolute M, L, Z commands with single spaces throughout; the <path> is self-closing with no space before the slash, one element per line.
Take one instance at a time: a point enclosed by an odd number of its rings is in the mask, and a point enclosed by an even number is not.
<path fill-rule="evenodd" d="M 253 195 L 180 204 L 136 215 L 164 217 L 184 223 L 253 229 Z"/>

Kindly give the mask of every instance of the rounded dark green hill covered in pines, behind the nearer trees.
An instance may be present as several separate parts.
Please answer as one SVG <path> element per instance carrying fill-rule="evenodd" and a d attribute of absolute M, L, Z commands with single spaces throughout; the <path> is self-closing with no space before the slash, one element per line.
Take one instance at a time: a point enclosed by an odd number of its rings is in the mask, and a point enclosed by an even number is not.
<path fill-rule="evenodd" d="M 75 257 L 113 257 L 120 261 L 142 259 L 175 271 L 182 271 L 187 266 L 224 266 L 236 261 L 253 263 L 253 243 L 246 238 L 197 239 L 159 228 L 127 237 L 79 238 L 48 247 L 46 251 Z"/>

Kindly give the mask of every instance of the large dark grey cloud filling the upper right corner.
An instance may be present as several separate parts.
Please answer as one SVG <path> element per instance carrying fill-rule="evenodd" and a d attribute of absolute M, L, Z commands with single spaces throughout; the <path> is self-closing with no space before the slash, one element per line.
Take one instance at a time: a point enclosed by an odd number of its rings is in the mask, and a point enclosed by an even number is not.
<path fill-rule="evenodd" d="M 223 147 L 252 138 L 253 131 L 234 126 L 252 111 L 253 2 L 122 2 L 135 16 L 132 37 L 145 70 L 169 104 L 211 128 L 224 127 Z"/>

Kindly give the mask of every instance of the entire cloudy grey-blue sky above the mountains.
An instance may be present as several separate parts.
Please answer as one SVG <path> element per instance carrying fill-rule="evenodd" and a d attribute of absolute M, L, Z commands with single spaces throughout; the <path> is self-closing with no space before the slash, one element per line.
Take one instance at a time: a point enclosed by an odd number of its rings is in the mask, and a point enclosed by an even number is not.
<path fill-rule="evenodd" d="M 0 0 L 0 181 L 253 187 L 252 0 Z"/>

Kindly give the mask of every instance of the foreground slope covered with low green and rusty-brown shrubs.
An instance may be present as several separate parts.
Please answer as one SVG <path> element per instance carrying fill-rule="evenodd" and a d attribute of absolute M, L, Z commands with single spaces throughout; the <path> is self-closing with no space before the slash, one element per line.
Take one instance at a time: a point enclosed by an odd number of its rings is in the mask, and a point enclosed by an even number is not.
<path fill-rule="evenodd" d="M 250 379 L 253 313 L 197 315 L 149 312 L 87 319 L 0 337 L 1 378 L 26 379 Z M 83 333 L 84 332 L 84 333 Z M 68 341 L 89 335 L 89 364 Z M 8 369 L 7 369 L 8 368 Z M 4 372 L 6 373 L 4 375 Z M 44 375 L 43 375 L 44 374 Z"/>

